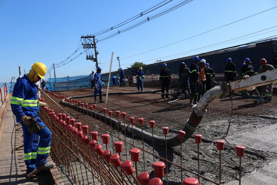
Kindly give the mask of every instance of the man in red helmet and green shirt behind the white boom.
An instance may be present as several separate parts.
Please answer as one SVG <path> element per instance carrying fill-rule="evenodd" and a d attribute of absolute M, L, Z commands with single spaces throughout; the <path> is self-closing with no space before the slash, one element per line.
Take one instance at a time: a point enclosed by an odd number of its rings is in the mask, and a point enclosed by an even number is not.
<path fill-rule="evenodd" d="M 272 65 L 267 64 L 267 60 L 265 60 L 264 58 L 262 58 L 260 60 L 260 64 L 261 64 L 261 67 L 260 67 L 259 72 L 258 72 L 259 74 L 275 69 Z M 271 101 L 271 99 L 272 99 L 272 90 L 273 90 L 272 83 L 261 86 L 261 90 L 265 95 L 265 100 Z"/>

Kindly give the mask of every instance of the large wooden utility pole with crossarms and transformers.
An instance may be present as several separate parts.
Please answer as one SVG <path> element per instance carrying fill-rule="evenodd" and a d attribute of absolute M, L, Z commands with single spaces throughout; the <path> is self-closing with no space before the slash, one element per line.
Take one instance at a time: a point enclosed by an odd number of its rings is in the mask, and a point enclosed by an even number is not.
<path fill-rule="evenodd" d="M 91 38 L 93 40 L 91 40 Z M 95 36 L 82 36 L 81 39 L 84 39 L 84 43 L 82 42 L 83 48 L 84 49 L 91 49 L 94 48 L 94 56 L 92 54 L 92 52 L 89 52 L 89 55 L 87 54 L 86 59 L 87 60 L 92 60 L 96 63 L 96 67 L 98 67 L 98 60 L 97 60 L 97 55 L 99 54 L 98 51 L 96 51 L 96 42 L 95 42 Z"/>

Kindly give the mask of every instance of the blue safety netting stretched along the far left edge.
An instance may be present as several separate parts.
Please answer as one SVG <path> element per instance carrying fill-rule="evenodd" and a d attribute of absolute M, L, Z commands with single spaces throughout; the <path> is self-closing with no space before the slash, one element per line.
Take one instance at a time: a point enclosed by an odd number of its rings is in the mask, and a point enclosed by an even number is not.
<path fill-rule="evenodd" d="M 102 79 L 108 80 L 108 77 Z M 106 87 L 108 82 L 102 81 L 102 87 Z M 110 81 L 110 86 L 112 81 Z M 66 91 L 91 88 L 91 80 L 88 76 L 65 77 L 65 78 L 48 78 L 46 89 L 50 91 Z"/>

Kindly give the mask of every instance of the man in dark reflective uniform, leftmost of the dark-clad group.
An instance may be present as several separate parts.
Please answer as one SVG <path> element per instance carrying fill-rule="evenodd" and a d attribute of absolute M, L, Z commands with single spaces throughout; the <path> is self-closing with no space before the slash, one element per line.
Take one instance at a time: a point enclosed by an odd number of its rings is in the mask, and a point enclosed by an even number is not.
<path fill-rule="evenodd" d="M 161 82 L 162 84 L 162 98 L 165 99 L 164 97 L 164 90 L 166 89 L 166 98 L 169 98 L 169 83 L 172 82 L 172 79 L 171 79 L 171 74 L 170 74 L 170 71 L 169 69 L 166 69 L 167 68 L 167 65 L 166 63 L 163 63 L 163 69 L 161 70 L 160 72 L 160 78 L 159 78 L 159 81 Z"/>

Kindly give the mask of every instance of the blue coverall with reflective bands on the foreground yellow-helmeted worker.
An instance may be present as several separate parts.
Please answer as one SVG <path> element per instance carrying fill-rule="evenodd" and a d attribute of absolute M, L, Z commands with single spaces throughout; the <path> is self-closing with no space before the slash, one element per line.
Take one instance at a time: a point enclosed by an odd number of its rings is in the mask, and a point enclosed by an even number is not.
<path fill-rule="evenodd" d="M 47 163 L 46 159 L 50 153 L 52 133 L 39 119 L 37 88 L 35 83 L 30 81 L 26 75 L 14 85 L 10 104 L 13 114 L 16 116 L 16 121 L 22 125 L 26 173 L 30 173 L 36 167 Z M 36 117 L 37 123 L 45 128 L 35 134 L 30 134 L 27 126 L 21 121 L 23 116 Z"/>

